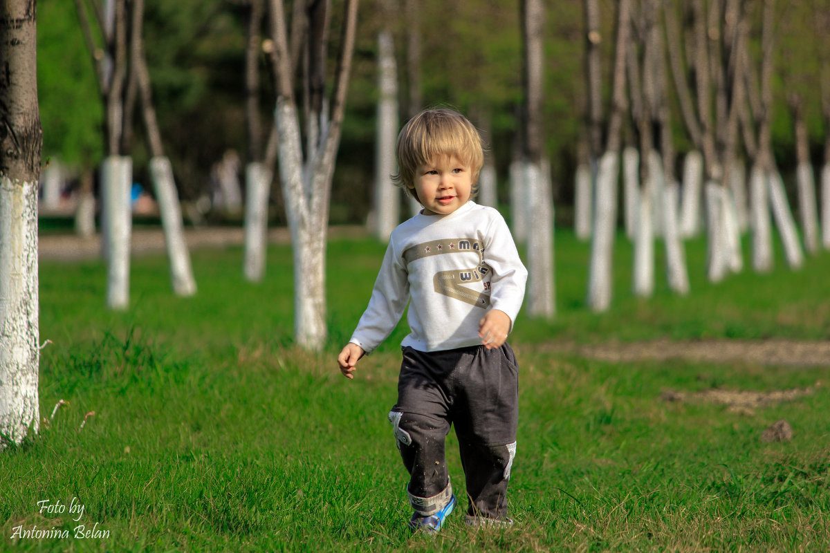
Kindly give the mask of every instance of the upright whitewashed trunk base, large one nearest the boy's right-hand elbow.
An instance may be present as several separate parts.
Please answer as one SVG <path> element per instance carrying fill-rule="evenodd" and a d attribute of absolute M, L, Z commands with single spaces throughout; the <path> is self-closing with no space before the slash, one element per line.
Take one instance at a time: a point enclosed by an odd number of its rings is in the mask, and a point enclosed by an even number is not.
<path fill-rule="evenodd" d="M 530 202 L 527 236 L 528 295 L 525 306 L 530 317 L 551 318 L 554 305 L 554 206 L 551 201 L 549 167 L 525 164 L 525 183 Z M 525 206 L 528 204 L 525 203 Z M 532 230 L 531 230 L 532 229 Z"/>

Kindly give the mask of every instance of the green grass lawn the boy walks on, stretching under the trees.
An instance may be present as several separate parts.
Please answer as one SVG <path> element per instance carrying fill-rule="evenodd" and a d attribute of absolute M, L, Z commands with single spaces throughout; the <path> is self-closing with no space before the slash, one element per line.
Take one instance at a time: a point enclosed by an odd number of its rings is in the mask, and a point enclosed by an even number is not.
<path fill-rule="evenodd" d="M 241 249 L 193 252 L 199 292 L 186 299 L 170 292 L 163 255 L 134 259 L 125 313 L 104 309 L 99 261 L 41 262 L 41 342 L 52 342 L 41 357 L 41 416 L 59 400 L 70 405 L 0 454 L 0 551 L 830 550 L 830 394 L 821 386 L 830 360 L 613 362 L 549 347 L 827 341 L 830 254 L 797 272 L 779 257 L 771 274 L 713 285 L 696 240 L 687 246 L 692 293 L 667 291 L 658 255 L 656 293 L 642 300 L 629 291 L 630 246 L 618 240 L 613 308 L 594 315 L 583 301 L 588 245 L 560 231 L 557 317 L 520 316 L 511 338 L 521 386 L 516 524 L 471 530 L 457 512 L 430 538 L 407 530 L 407 477 L 386 421 L 403 325 L 354 381 L 335 361 L 383 250 L 330 241 L 330 345 L 320 354 L 292 345 L 288 246 L 271 246 L 261 284 L 242 278 Z M 751 409 L 662 399 L 712 388 L 808 393 Z M 760 439 L 779 419 L 793 439 Z"/>

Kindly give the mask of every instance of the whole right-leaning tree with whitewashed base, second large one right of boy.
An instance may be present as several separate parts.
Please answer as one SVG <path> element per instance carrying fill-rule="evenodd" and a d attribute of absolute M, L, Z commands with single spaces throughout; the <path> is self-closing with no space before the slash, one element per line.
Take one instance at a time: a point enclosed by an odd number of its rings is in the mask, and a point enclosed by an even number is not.
<path fill-rule="evenodd" d="M 623 114 L 626 113 L 628 101 L 625 93 L 626 60 L 630 40 L 631 2 L 621 0 L 617 7 L 617 37 L 614 48 L 612 77 L 612 106 L 608 119 L 607 140 L 604 153 L 599 160 L 596 177 L 596 193 L 593 201 L 593 230 L 591 232 L 591 260 L 588 273 L 588 308 L 595 313 L 607 310 L 611 305 L 613 281 L 613 241 L 617 230 L 617 189 L 619 177 L 619 157 L 622 146 Z M 593 41 L 599 41 L 595 36 Z M 592 41 L 588 37 L 588 41 Z M 591 86 L 599 83 L 592 80 Z M 594 131 L 594 135 L 600 134 Z M 589 140 L 590 142 L 590 140 Z M 601 149 L 603 144 L 591 147 Z"/>

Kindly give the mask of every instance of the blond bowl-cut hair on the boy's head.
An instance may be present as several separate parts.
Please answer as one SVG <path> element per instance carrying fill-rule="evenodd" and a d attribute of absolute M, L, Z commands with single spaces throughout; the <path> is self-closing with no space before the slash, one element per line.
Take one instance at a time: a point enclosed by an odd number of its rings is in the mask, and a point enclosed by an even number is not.
<path fill-rule="evenodd" d="M 470 166 L 470 197 L 478 192 L 478 175 L 484 164 L 484 143 L 478 129 L 466 117 L 452 109 L 425 109 L 409 119 L 398 133 L 398 174 L 392 176 L 396 186 L 415 195 L 415 171 L 432 158 L 455 156 Z"/>

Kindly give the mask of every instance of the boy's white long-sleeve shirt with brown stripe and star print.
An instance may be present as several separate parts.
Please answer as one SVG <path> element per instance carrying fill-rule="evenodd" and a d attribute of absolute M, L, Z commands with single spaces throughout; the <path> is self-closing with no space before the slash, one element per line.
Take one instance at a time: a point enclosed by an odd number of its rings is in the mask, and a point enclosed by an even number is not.
<path fill-rule="evenodd" d="M 410 333 L 401 345 L 436 352 L 481 344 L 479 321 L 488 309 L 515 322 L 526 280 L 510 229 L 495 209 L 467 201 L 447 216 L 419 214 L 393 230 L 349 342 L 373 351 L 409 302 Z"/>

